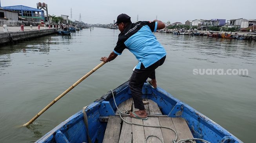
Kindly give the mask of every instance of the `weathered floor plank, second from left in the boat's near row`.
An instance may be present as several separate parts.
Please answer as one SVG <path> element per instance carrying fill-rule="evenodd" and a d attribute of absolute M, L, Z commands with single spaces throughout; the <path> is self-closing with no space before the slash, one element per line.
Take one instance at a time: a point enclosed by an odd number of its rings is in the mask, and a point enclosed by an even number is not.
<path fill-rule="evenodd" d="M 132 122 L 131 117 L 124 117 L 123 118 L 127 122 Z M 133 133 L 132 133 L 132 125 L 123 122 L 119 143 L 132 143 L 133 140 Z"/>

